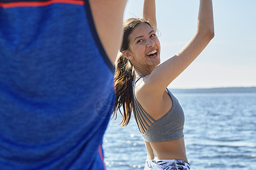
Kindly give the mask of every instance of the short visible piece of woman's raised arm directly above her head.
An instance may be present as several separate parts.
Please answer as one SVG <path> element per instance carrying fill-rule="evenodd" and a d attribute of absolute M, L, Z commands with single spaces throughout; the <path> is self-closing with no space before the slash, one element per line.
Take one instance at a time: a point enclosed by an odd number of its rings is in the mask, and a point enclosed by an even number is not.
<path fill-rule="evenodd" d="M 156 31 L 155 0 L 144 0 L 142 16 Z"/>

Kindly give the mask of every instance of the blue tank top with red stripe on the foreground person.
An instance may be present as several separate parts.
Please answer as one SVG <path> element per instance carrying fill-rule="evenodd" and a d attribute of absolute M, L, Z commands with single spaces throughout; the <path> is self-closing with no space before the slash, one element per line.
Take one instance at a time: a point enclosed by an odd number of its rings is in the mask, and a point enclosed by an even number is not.
<path fill-rule="evenodd" d="M 114 67 L 88 1 L 0 1 L 0 169 L 104 169 Z"/>

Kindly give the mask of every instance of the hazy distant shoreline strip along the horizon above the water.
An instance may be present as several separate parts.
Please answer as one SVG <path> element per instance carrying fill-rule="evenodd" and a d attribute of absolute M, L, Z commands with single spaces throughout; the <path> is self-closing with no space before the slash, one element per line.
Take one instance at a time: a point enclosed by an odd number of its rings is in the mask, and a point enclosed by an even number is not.
<path fill-rule="evenodd" d="M 195 93 L 195 94 L 205 94 L 205 93 L 256 93 L 256 87 L 220 87 L 220 88 L 189 88 L 189 89 L 179 89 L 170 88 L 173 93 Z"/>

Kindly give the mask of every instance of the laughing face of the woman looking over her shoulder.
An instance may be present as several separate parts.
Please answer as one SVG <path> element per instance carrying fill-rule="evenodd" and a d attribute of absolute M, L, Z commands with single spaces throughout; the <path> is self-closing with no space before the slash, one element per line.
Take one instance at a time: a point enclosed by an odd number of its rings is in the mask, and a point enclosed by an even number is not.
<path fill-rule="evenodd" d="M 160 42 L 150 25 L 147 23 L 137 25 L 131 32 L 129 40 L 130 49 L 127 50 L 127 58 L 134 67 L 154 69 L 159 65 Z"/>

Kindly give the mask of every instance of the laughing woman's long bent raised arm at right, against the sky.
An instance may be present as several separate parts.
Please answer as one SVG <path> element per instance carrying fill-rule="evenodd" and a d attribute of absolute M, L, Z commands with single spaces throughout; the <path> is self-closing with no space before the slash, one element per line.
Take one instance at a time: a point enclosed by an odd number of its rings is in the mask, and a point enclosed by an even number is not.
<path fill-rule="evenodd" d="M 144 79 L 148 90 L 163 94 L 166 87 L 182 73 L 214 37 L 212 0 L 200 0 L 197 30 L 192 39 L 174 57 L 156 67 Z"/>

